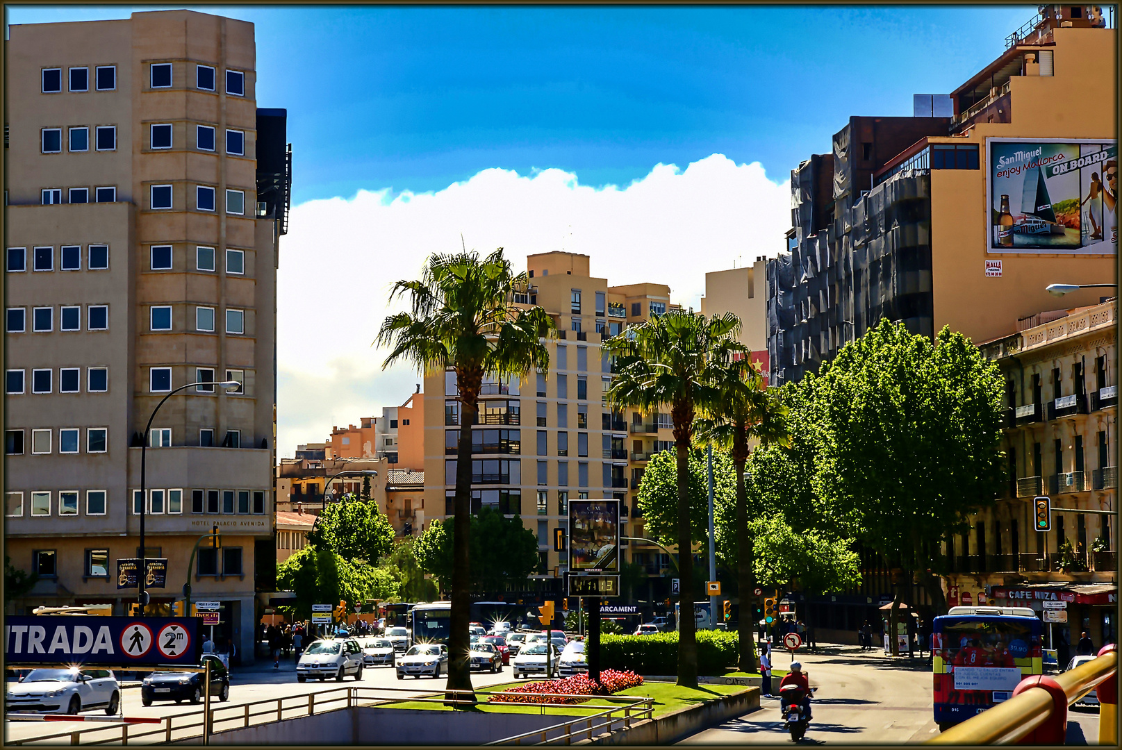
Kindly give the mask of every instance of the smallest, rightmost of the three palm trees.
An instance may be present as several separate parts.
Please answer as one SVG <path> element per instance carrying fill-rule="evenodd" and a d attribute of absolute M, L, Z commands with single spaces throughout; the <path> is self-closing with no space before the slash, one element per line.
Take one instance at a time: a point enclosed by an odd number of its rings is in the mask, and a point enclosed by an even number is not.
<path fill-rule="evenodd" d="M 756 672 L 756 655 L 752 646 L 752 621 L 745 613 L 752 612 L 747 604 L 751 591 L 755 589 L 753 570 L 753 545 L 748 534 L 747 489 L 744 483 L 744 467 L 748 462 L 752 443 L 766 447 L 773 444 L 790 446 L 791 437 L 787 427 L 788 408 L 774 393 L 769 393 L 760 365 L 747 359 L 728 362 L 717 373 L 720 389 L 719 406 L 711 418 L 698 422 L 697 435 L 700 442 L 712 442 L 729 448 L 736 467 L 736 580 L 741 592 L 739 640 L 741 672 Z"/>

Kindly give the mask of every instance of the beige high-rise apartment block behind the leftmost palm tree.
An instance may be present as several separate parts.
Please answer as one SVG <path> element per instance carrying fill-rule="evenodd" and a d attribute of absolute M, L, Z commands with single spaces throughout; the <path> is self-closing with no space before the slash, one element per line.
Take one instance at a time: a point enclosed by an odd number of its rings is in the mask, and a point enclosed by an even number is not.
<path fill-rule="evenodd" d="M 620 530 L 642 537 L 643 519 L 634 497 L 650 456 L 670 447 L 670 417 L 613 413 L 604 401 L 611 379 L 600 342 L 665 313 L 670 287 L 661 284 L 609 286 L 591 276 L 588 256 L 546 252 L 526 259 L 531 287 L 518 305 L 537 305 L 553 316 L 558 337 L 546 341 L 550 369 L 522 382 L 485 383 L 479 424 L 473 426 L 472 512 L 490 507 L 519 515 L 537 536 L 541 564 L 534 587 L 491 592 L 507 600 L 519 594 L 555 595 L 562 590 L 565 553 L 552 546 L 552 529 L 568 525 L 568 501 L 618 498 Z M 460 410 L 453 373 L 425 378 L 424 503 L 429 517 L 452 512 Z M 625 559 L 657 574 L 657 547 L 624 541 Z M 668 582 L 669 585 L 669 582 Z M 527 600 L 528 602 L 530 600 Z"/>

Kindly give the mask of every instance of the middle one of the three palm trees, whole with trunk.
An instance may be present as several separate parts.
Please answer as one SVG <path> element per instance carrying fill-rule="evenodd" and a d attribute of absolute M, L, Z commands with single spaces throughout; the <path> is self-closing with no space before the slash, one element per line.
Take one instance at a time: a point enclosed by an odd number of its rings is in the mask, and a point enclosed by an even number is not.
<path fill-rule="evenodd" d="M 627 328 L 604 342 L 617 357 L 618 374 L 607 391 L 613 406 L 643 413 L 670 406 L 678 459 L 678 684 L 698 685 L 697 633 L 693 619 L 693 557 L 691 555 L 689 451 L 693 420 L 718 408 L 716 374 L 734 352 L 741 320 L 732 313 L 706 320 L 692 312 L 671 311 Z"/>

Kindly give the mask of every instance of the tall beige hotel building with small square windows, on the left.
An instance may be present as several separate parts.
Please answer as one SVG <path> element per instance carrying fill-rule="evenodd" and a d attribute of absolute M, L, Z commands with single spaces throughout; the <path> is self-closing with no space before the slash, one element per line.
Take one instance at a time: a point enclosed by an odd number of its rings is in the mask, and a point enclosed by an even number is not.
<path fill-rule="evenodd" d="M 277 243 L 291 149 L 259 110 L 252 24 L 191 11 L 17 25 L 7 45 L 6 553 L 40 604 L 136 601 L 168 559 L 252 659 L 272 591 Z M 146 492 L 140 454 L 153 409 Z M 196 539 L 218 526 L 220 550 Z"/>

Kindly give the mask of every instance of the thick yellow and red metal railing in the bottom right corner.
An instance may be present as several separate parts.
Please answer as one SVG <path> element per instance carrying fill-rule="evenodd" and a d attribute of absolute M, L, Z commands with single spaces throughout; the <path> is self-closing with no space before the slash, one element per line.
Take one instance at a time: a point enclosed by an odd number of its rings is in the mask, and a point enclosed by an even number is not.
<path fill-rule="evenodd" d="M 1113 647 L 1109 648 L 1113 649 Z M 1064 691 L 1067 705 L 1073 705 L 1105 680 L 1116 680 L 1118 651 L 1103 650 L 1105 652 L 1101 651 L 1098 658 L 1082 664 L 1055 678 L 1055 684 Z M 1024 685 L 1029 680 L 1037 680 L 1037 678 L 1038 676 L 1029 677 L 1021 684 Z M 928 740 L 926 744 L 1014 744 L 1029 738 L 1038 729 L 1045 728 L 1049 722 L 1055 722 L 1057 719 L 1066 720 L 1066 706 L 1063 709 L 1064 715 L 1057 716 L 1056 713 L 1059 709 L 1052 695 L 1047 689 L 1032 687 L 1031 683 L 1029 685 L 1030 687 L 1013 695 L 1009 701 L 951 726 L 939 737 Z M 1118 729 L 1114 725 L 1118 715 L 1116 683 L 1110 687 L 1114 691 L 1111 694 L 1114 698 L 1113 702 L 1105 700 L 1107 697 L 1105 689 L 1100 691 L 1102 698 L 1102 713 L 1098 722 L 1100 744 L 1118 743 Z M 1106 706 L 1111 706 L 1111 709 L 1107 710 Z M 1060 724 L 1063 723 L 1066 721 L 1060 722 Z M 1039 735 L 1033 741 L 1045 744 L 1055 743 L 1045 742 Z M 1063 744 L 1063 730 L 1060 730 L 1058 744 Z"/>

